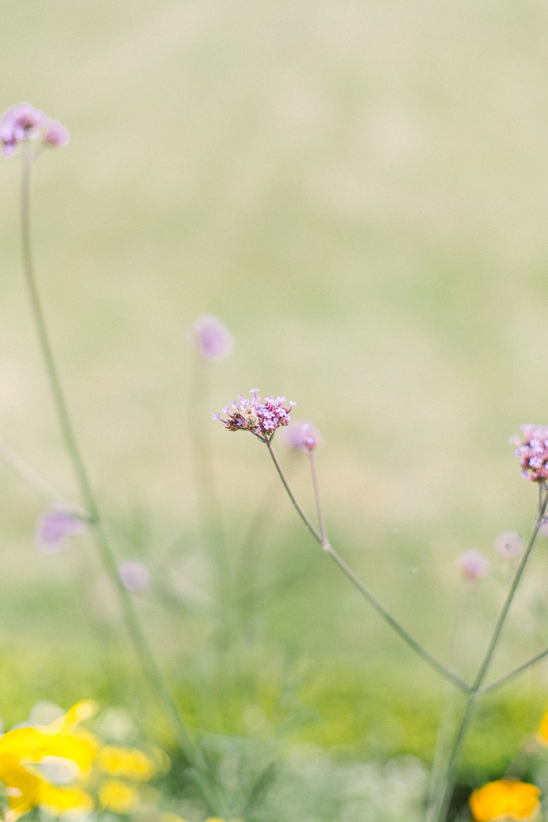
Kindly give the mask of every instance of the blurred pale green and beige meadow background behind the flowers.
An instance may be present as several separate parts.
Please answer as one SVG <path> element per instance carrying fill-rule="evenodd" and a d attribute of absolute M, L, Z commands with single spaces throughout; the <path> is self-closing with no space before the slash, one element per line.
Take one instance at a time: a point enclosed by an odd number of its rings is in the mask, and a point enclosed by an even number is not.
<path fill-rule="evenodd" d="M 534 0 L 4 0 L 2 110 L 28 99 L 71 132 L 33 190 L 62 382 L 117 556 L 153 572 L 140 616 L 194 727 L 293 723 L 285 744 L 316 771 L 322 752 L 430 763 L 440 678 L 311 541 L 265 449 L 213 422 L 226 562 L 205 546 L 187 330 L 211 313 L 236 338 L 209 417 L 260 386 L 320 428 L 332 542 L 440 658 L 458 554 L 495 563 L 469 675 L 504 598 L 495 537 L 526 535 L 536 506 L 508 438 L 548 422 L 547 34 Z M 73 498 L 21 278 L 19 166 L 0 163 L 0 434 Z M 280 454 L 312 510 L 306 465 Z M 169 749 L 91 543 L 39 554 L 42 501 L 3 465 L 0 487 L 7 727 L 92 696 Z M 548 640 L 547 563 L 543 538 L 492 677 Z M 541 663 L 482 704 L 471 784 L 546 702 Z"/>

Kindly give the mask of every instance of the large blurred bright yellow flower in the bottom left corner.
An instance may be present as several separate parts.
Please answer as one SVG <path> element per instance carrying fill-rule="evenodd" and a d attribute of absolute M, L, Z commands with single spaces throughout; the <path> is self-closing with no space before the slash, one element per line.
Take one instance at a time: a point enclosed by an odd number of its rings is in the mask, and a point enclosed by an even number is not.
<path fill-rule="evenodd" d="M 98 741 L 90 733 L 75 732 L 97 705 L 78 702 L 50 725 L 19 727 L 0 738 L 0 780 L 6 785 L 7 822 L 15 822 L 37 805 L 60 814 L 69 808 L 90 810 L 89 794 L 75 787 L 90 773 Z M 53 773 L 58 779 L 44 778 Z M 56 787 L 52 781 L 67 787 Z"/>

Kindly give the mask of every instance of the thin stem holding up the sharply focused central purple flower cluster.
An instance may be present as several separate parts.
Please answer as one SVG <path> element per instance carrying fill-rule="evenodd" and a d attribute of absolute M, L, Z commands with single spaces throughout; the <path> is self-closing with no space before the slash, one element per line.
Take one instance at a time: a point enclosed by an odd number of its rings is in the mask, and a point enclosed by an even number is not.
<path fill-rule="evenodd" d="M 361 582 L 360 578 L 346 564 L 342 557 L 338 556 L 338 553 L 334 550 L 334 547 L 332 547 L 329 544 L 327 538 L 325 538 L 325 540 L 324 538 L 322 538 L 321 534 L 318 533 L 318 531 L 314 528 L 314 526 L 311 524 L 311 521 L 308 519 L 308 517 L 302 510 L 301 506 L 298 504 L 291 490 L 291 487 L 289 487 L 288 480 L 285 478 L 283 474 L 283 470 L 279 464 L 279 461 L 276 455 L 274 454 L 272 444 L 269 442 L 269 440 L 265 440 L 265 442 L 269 449 L 269 455 L 272 458 L 272 461 L 274 462 L 276 470 L 279 473 L 280 479 L 282 480 L 283 487 L 288 492 L 289 499 L 292 501 L 293 506 L 295 506 L 295 509 L 297 510 L 297 513 L 301 517 L 302 521 L 306 524 L 306 527 L 310 529 L 311 533 L 313 534 L 317 542 L 320 543 L 324 551 L 328 553 L 329 556 L 331 556 L 331 558 L 337 563 L 338 567 L 343 571 L 343 573 L 348 576 L 348 579 L 352 582 L 352 584 L 354 584 L 356 588 L 363 594 L 368 603 L 370 603 L 370 605 L 373 608 L 375 608 L 375 611 L 379 613 L 380 616 L 383 617 L 383 619 L 386 622 L 388 622 L 389 626 L 396 631 L 396 633 L 403 639 L 404 642 L 406 642 L 414 651 L 416 651 L 416 653 L 422 659 L 424 659 L 426 663 L 431 665 L 431 667 L 435 668 L 435 670 L 439 672 L 442 675 L 442 677 L 449 679 L 454 683 L 454 685 L 460 688 L 460 690 L 463 690 L 464 693 L 468 694 L 470 692 L 470 686 L 468 686 L 465 681 L 463 681 L 452 671 L 449 671 L 449 668 L 445 667 L 444 665 L 442 665 L 442 663 L 438 662 L 438 660 L 435 657 L 433 657 L 431 653 L 429 653 L 425 648 L 423 648 L 422 645 L 418 643 L 417 640 L 415 640 L 414 637 L 412 637 L 412 635 L 409 634 L 408 631 L 405 630 L 405 628 L 401 626 L 397 620 L 394 619 L 394 617 L 386 610 L 384 605 L 382 605 L 379 602 L 379 600 L 375 597 L 375 595 L 371 593 L 367 586 L 363 582 Z"/>

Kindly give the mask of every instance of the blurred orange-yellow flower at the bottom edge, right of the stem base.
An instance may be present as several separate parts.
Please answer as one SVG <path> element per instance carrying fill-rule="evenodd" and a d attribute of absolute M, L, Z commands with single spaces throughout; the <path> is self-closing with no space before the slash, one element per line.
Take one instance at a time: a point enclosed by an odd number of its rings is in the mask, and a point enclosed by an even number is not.
<path fill-rule="evenodd" d="M 513 779 L 497 779 L 478 787 L 469 799 L 476 822 L 531 820 L 540 810 L 536 785 Z"/>

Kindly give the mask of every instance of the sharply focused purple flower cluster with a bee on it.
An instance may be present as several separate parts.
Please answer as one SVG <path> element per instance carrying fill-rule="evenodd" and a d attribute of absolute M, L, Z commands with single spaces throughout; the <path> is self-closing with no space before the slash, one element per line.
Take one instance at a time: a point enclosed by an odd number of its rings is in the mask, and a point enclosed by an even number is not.
<path fill-rule="evenodd" d="M 214 414 L 214 419 L 220 419 L 228 431 L 251 431 L 261 438 L 270 438 L 276 428 L 288 424 L 291 409 L 296 403 L 289 402 L 286 407 L 284 403 L 288 401 L 285 397 L 260 399 L 258 393 L 258 388 L 252 388 L 251 399 L 239 395 L 232 406 L 227 405 L 222 410 L 222 413 L 228 414 L 228 419 L 223 419 L 220 413 Z"/>

